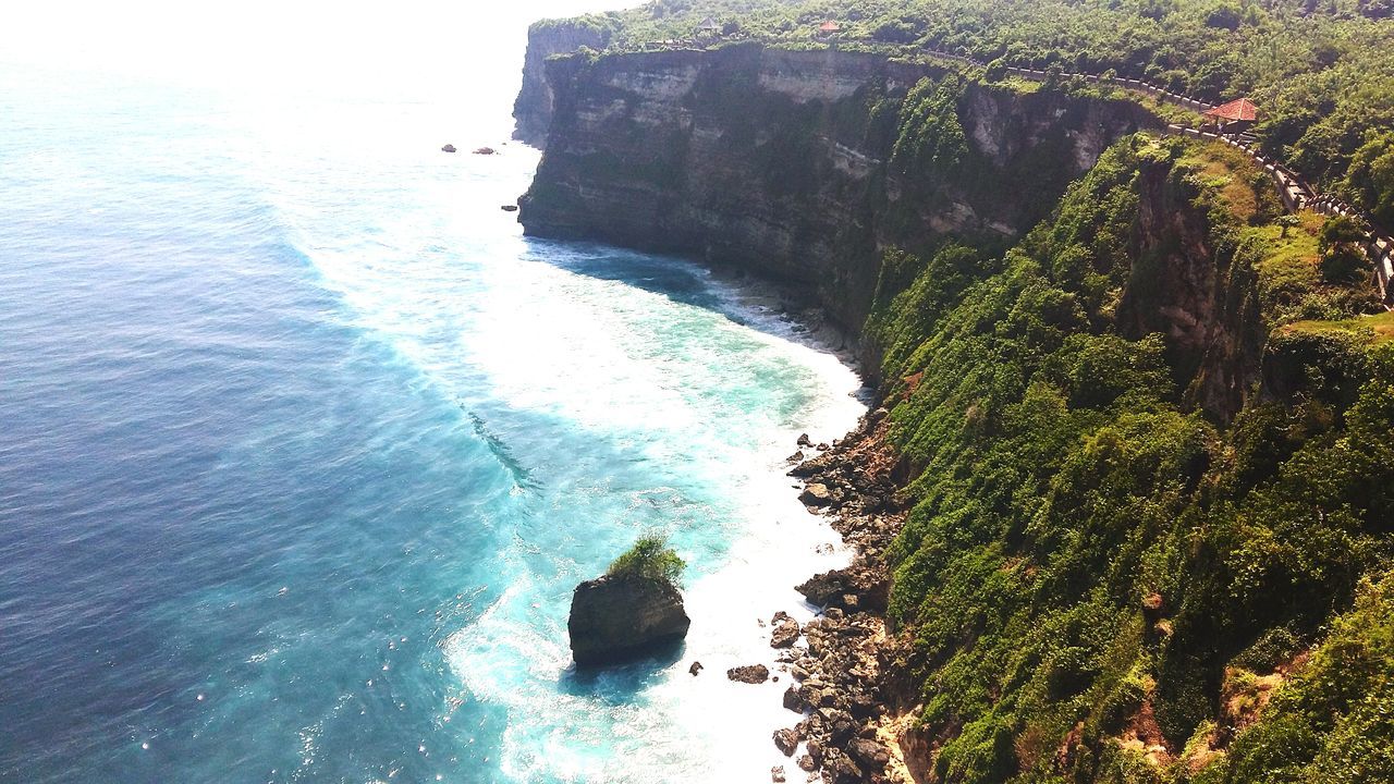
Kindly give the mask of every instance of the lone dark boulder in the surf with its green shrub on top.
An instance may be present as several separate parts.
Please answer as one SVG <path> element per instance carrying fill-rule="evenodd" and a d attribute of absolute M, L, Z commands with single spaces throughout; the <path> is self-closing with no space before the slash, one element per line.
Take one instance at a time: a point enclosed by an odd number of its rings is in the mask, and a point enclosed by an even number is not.
<path fill-rule="evenodd" d="M 686 638 L 691 621 L 675 582 L 682 566 L 662 538 L 644 537 L 605 576 L 576 586 L 566 624 L 576 664 L 620 664 Z"/>

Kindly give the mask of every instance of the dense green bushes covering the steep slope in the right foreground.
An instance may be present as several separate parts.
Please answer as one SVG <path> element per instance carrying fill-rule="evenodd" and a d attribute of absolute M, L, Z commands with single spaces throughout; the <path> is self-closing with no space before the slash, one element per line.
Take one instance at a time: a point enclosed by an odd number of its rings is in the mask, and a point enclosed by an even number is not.
<path fill-rule="evenodd" d="M 998 259 L 887 255 L 868 332 L 887 378 L 920 378 L 892 388 L 891 438 L 917 478 L 891 611 L 916 633 L 920 721 L 942 741 L 945 781 L 1257 784 L 1387 764 L 1387 709 L 1284 696 L 1306 681 L 1280 688 L 1225 756 L 1227 667 L 1280 679 L 1298 651 L 1344 650 L 1333 612 L 1362 590 L 1387 607 L 1388 586 L 1359 586 L 1394 565 L 1394 352 L 1373 339 L 1394 322 L 1355 317 L 1351 293 L 1341 307 L 1316 269 L 1320 222 L 1284 237 L 1263 183 L 1234 163 L 1213 145 L 1125 140 Z M 1195 361 L 1129 326 L 1167 296 L 1133 250 L 1157 183 L 1203 222 L 1209 264 L 1274 307 L 1270 326 L 1323 293 L 1333 324 L 1359 325 L 1280 329 L 1269 395 L 1232 421 L 1197 407 L 1179 372 Z M 1362 622 L 1348 633 L 1387 668 Z M 1340 678 L 1374 678 L 1359 672 Z M 1302 745 L 1273 752 L 1294 723 Z M 1147 762 L 1125 734 L 1172 762 Z M 1308 773 L 1280 777 L 1289 769 Z"/>

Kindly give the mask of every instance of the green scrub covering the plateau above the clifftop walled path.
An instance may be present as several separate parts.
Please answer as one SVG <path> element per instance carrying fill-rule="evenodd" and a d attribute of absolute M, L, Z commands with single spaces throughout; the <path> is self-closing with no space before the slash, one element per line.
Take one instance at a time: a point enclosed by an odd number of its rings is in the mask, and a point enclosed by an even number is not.
<path fill-rule="evenodd" d="M 1388 0 L 654 0 L 583 17 L 613 49 L 691 42 L 714 17 L 722 39 L 1147 78 L 1218 102 L 1252 96 L 1267 153 L 1289 160 L 1394 227 L 1394 14 Z M 558 25 L 565 22 L 539 22 Z M 705 42 L 704 42 L 705 43 Z M 1098 89 L 1098 88 L 1090 88 Z M 1112 91 L 1122 93 L 1124 91 Z M 1184 110 L 1133 93 L 1168 120 Z M 1174 114 L 1182 116 L 1174 116 Z"/>

